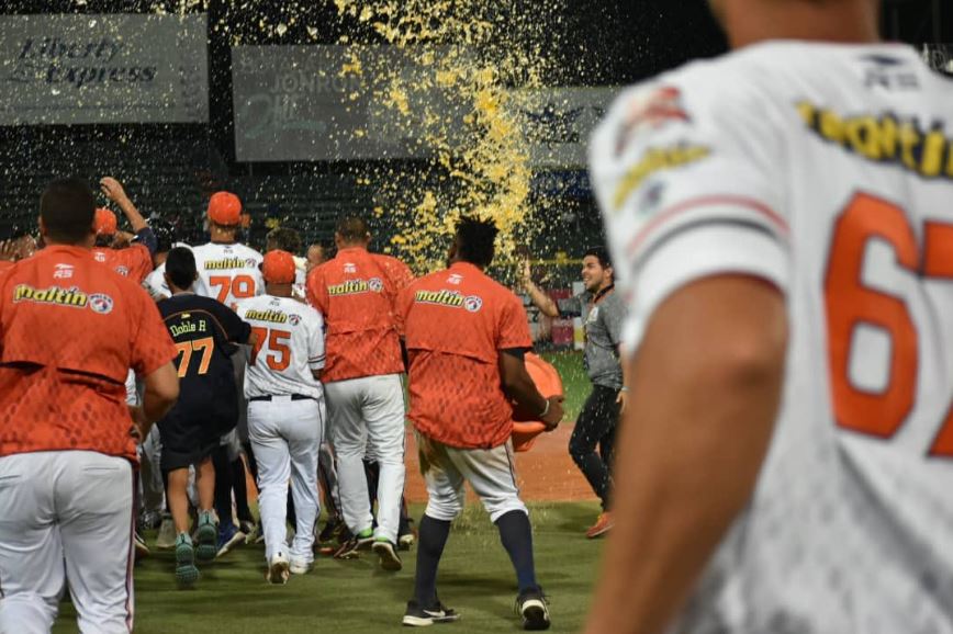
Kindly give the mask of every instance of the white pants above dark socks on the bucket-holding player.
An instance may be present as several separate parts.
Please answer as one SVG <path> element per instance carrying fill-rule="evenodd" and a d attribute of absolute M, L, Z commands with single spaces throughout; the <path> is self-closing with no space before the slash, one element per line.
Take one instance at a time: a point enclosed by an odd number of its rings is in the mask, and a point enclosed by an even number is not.
<path fill-rule="evenodd" d="M 516 486 L 513 444 L 507 440 L 493 449 L 457 449 L 417 433 L 421 468 L 427 483 L 426 513 L 451 521 L 463 510 L 470 486 L 495 522 L 509 511 L 529 514 Z"/>

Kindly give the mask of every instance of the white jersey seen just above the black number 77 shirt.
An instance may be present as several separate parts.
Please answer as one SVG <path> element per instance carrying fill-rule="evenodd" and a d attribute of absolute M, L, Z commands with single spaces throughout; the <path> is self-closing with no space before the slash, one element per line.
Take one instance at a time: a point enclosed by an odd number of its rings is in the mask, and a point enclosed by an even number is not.
<path fill-rule="evenodd" d="M 235 308 L 239 299 L 265 293 L 261 278 L 261 253 L 240 242 L 222 245 L 209 242 L 192 247 L 199 281 L 195 293 L 212 297 Z"/>

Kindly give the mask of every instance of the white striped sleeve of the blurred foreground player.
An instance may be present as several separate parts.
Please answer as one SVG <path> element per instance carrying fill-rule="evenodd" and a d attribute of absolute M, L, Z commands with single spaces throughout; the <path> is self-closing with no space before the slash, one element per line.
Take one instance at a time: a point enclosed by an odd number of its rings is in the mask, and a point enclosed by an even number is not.
<path fill-rule="evenodd" d="M 696 65 L 631 89 L 591 140 L 592 182 L 629 298 L 628 346 L 664 297 L 697 279 L 741 273 L 787 288 L 782 133 L 756 82 L 732 70 Z"/>

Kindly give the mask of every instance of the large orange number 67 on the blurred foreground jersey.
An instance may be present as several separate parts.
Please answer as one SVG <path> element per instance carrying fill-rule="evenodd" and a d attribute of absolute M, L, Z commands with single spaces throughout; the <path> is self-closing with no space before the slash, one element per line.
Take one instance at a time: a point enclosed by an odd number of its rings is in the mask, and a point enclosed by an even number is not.
<path fill-rule="evenodd" d="M 845 429 L 890 439 L 913 409 L 920 370 L 916 325 L 907 304 L 865 286 L 862 271 L 867 244 L 881 240 L 910 273 L 953 282 L 953 225 L 926 223 L 922 234 L 919 245 L 904 210 L 868 194 L 855 195 L 837 220 L 825 295 L 834 414 Z M 882 392 L 861 389 L 850 380 L 854 329 L 864 324 L 890 336 L 889 378 Z M 928 453 L 953 457 L 953 405 L 938 426 Z"/>

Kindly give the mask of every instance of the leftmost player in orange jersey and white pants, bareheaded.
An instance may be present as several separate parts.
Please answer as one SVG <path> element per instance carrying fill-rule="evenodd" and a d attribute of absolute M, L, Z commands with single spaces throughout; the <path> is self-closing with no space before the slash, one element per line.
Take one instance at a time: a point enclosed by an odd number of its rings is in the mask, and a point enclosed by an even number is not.
<path fill-rule="evenodd" d="M 3 633 L 49 632 L 65 585 L 81 632 L 133 629 L 133 430 L 145 434 L 179 386 L 155 304 L 92 258 L 94 210 L 83 181 L 51 183 L 46 248 L 0 273 Z M 125 403 L 130 367 L 141 408 Z"/>

